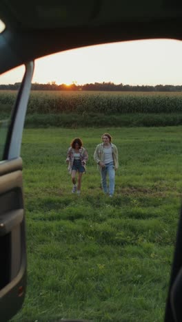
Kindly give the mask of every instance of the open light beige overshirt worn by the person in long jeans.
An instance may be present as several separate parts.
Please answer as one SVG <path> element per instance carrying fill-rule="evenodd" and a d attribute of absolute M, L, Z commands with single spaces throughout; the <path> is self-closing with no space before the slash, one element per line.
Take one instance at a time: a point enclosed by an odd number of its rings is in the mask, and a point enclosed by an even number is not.
<path fill-rule="evenodd" d="M 118 162 L 118 151 L 117 151 L 117 147 L 116 145 L 111 144 L 112 147 L 112 157 L 113 157 L 113 161 L 114 161 L 114 168 L 115 170 L 118 169 L 119 167 L 119 162 Z M 99 171 L 101 171 L 102 167 L 99 165 L 99 162 L 103 162 L 104 161 L 104 145 L 103 143 L 100 143 L 97 145 L 95 151 L 94 151 L 94 160 L 95 162 L 97 162 L 97 167 L 99 169 Z"/>

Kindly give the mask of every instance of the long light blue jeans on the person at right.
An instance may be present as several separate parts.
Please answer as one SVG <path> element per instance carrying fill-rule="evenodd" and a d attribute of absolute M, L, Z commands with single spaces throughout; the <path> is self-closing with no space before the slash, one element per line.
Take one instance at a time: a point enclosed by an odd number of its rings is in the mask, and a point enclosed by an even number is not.
<path fill-rule="evenodd" d="M 107 173 L 109 175 L 109 189 L 107 186 Z M 115 185 L 114 162 L 105 164 L 105 167 L 101 169 L 101 184 L 104 193 L 109 193 L 109 195 L 113 195 Z"/>

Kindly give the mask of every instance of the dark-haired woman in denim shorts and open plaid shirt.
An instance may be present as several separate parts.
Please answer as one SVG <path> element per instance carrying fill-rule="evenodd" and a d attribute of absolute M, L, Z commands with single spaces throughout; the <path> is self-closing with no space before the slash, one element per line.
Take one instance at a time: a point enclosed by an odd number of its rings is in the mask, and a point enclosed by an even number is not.
<path fill-rule="evenodd" d="M 81 193 L 81 177 L 85 173 L 85 164 L 88 160 L 88 152 L 83 147 L 80 138 L 74 138 L 71 146 L 68 148 L 66 162 L 68 163 L 68 171 L 72 176 L 72 193 L 79 195 Z M 79 174 L 78 185 L 76 184 L 76 175 Z"/>

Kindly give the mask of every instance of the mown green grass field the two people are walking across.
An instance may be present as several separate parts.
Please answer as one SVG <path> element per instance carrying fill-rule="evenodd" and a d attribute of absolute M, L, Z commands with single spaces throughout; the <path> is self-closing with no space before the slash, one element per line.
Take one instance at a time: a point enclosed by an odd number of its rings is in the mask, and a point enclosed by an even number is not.
<path fill-rule="evenodd" d="M 92 155 L 109 131 L 120 167 L 112 199 Z M 65 153 L 88 149 L 81 195 Z M 25 129 L 28 289 L 12 321 L 163 321 L 182 188 L 182 127 Z"/>

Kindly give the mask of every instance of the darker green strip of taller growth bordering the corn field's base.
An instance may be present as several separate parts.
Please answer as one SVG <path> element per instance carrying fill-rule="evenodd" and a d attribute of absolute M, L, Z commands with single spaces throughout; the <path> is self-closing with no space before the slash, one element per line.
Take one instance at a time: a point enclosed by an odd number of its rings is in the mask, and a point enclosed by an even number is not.
<path fill-rule="evenodd" d="M 128 113 L 111 114 L 83 112 L 60 113 L 60 114 L 28 114 L 26 116 L 26 128 L 45 128 L 45 127 L 69 127 L 77 129 L 80 127 L 166 127 L 182 125 L 181 113 Z"/>

